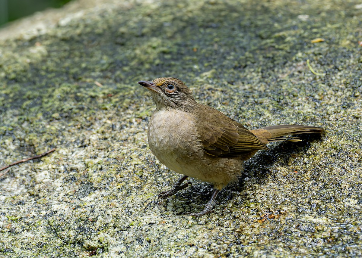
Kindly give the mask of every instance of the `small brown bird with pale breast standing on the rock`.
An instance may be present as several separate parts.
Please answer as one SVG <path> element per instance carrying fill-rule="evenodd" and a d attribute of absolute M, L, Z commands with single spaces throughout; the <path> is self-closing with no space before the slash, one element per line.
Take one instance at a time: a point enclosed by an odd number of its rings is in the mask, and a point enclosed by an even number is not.
<path fill-rule="evenodd" d="M 139 81 L 150 91 L 156 109 L 148 123 L 148 144 L 153 155 L 172 171 L 181 174 L 171 189 L 158 195 L 168 198 L 192 185 L 188 177 L 214 186 L 211 198 L 199 217 L 215 206 L 216 195 L 238 182 L 243 163 L 258 150 L 269 150 L 267 143 L 301 141 L 294 134 L 322 133 L 323 128 L 308 125 L 273 125 L 248 130 L 215 108 L 200 104 L 180 79 L 161 77 Z"/>

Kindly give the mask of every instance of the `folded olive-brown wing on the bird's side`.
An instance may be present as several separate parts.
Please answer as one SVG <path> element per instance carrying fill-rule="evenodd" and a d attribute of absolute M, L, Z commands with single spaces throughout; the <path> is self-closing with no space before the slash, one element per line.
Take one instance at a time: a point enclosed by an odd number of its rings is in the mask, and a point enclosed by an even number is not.
<path fill-rule="evenodd" d="M 268 150 L 260 139 L 237 121 L 227 117 L 222 112 L 199 105 L 206 114 L 199 116 L 202 121 L 201 143 L 205 152 L 213 156 L 238 156 L 250 151 Z"/>

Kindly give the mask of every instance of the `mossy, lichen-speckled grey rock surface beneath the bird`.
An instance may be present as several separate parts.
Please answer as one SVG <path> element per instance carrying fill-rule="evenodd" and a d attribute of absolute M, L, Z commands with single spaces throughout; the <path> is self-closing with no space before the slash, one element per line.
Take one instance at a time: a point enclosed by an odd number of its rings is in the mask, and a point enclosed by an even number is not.
<path fill-rule="evenodd" d="M 0 167 L 57 149 L 0 177 L 0 256 L 361 256 L 361 17 L 358 1 L 104 0 L 2 29 Z M 249 129 L 328 131 L 271 145 L 213 213 L 182 215 L 212 188 L 157 201 L 178 175 L 148 148 L 137 81 L 165 76 Z"/>

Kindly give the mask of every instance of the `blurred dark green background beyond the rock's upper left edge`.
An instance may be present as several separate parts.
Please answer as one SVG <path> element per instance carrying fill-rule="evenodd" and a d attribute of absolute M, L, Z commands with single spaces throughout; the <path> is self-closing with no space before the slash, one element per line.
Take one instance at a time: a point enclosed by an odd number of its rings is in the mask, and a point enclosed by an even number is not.
<path fill-rule="evenodd" d="M 71 0 L 0 0 L 0 26 L 46 8 L 59 8 Z"/>

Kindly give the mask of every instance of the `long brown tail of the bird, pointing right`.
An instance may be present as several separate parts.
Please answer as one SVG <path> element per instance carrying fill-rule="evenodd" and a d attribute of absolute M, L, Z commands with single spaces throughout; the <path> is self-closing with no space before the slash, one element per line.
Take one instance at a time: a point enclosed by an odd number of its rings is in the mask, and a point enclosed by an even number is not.
<path fill-rule="evenodd" d="M 251 130 L 263 143 L 277 141 L 302 141 L 299 137 L 286 137 L 287 135 L 303 133 L 322 133 L 323 128 L 308 125 L 273 125 Z"/>

